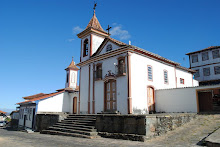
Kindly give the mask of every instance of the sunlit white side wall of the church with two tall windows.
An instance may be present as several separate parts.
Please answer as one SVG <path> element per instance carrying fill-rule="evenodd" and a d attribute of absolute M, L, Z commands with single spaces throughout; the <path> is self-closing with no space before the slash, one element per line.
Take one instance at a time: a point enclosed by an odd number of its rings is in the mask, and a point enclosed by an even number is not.
<path fill-rule="evenodd" d="M 152 66 L 153 81 L 148 80 L 148 65 Z M 168 84 L 164 83 L 164 70 L 168 71 Z M 134 114 L 148 113 L 147 87 L 156 89 L 176 88 L 176 77 L 184 78 L 185 86 L 192 86 L 192 74 L 176 69 L 169 64 L 135 53 L 131 54 L 132 110 Z M 195 82 L 196 83 L 196 82 Z M 177 85 L 180 86 L 180 85 Z M 155 99 L 157 97 L 155 96 Z"/>

